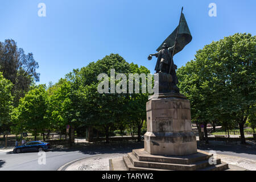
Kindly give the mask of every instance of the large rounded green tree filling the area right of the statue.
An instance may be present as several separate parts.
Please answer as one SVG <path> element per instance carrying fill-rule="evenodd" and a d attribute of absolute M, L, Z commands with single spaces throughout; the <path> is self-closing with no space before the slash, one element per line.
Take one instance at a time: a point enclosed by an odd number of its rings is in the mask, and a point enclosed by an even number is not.
<path fill-rule="evenodd" d="M 236 122 L 243 144 L 243 126 L 256 102 L 255 47 L 256 36 L 234 34 L 200 49 L 177 72 L 193 119 Z"/>

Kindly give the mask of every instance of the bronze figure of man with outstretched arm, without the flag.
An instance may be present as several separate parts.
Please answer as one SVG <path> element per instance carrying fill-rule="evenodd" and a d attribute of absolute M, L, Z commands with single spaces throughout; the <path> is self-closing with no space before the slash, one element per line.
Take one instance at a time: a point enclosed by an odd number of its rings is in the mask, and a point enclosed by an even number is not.
<path fill-rule="evenodd" d="M 174 64 L 174 60 L 172 60 L 172 52 L 174 51 L 174 46 L 168 47 L 166 43 L 163 44 L 162 49 L 160 49 L 159 52 L 155 54 L 151 54 L 148 56 L 148 60 L 152 59 L 152 56 L 155 56 L 158 58 L 158 61 L 156 62 L 155 71 L 156 73 L 167 73 L 171 72 L 172 78 L 174 80 L 174 85 L 178 84 L 177 76 L 176 76 L 176 69 L 177 65 Z"/>

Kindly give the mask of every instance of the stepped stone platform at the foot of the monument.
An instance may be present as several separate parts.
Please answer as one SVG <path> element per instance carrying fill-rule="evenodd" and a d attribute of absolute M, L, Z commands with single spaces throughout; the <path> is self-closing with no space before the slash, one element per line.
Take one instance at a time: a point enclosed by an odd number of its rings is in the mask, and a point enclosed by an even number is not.
<path fill-rule="evenodd" d="M 111 171 L 224 171 L 228 164 L 212 155 L 197 151 L 183 156 L 150 155 L 144 149 L 133 150 L 122 159 L 110 159 Z M 210 160 L 210 162 L 209 162 Z"/>

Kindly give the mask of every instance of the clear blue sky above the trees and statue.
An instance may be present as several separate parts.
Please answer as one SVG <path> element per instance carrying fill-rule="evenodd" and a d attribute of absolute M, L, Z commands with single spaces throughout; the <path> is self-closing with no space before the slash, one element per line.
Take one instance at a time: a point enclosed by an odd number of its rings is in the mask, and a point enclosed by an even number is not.
<path fill-rule="evenodd" d="M 42 2 L 46 17 L 38 16 Z M 210 3 L 217 17 L 208 15 Z M 14 39 L 34 53 L 38 84 L 55 83 L 110 53 L 154 73 L 156 59 L 147 56 L 177 27 L 182 6 L 193 40 L 175 55 L 178 68 L 212 41 L 236 32 L 255 35 L 255 0 L 0 0 L 0 41 Z"/>

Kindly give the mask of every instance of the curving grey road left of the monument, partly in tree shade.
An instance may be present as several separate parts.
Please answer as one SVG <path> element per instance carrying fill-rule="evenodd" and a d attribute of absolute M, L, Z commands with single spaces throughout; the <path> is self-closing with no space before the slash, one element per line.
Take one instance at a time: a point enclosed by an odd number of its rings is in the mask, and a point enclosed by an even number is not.
<path fill-rule="evenodd" d="M 99 154 L 127 154 L 134 148 L 142 148 L 143 143 L 124 143 L 100 146 L 86 146 L 63 150 L 50 150 L 46 152 L 46 165 L 38 164 L 38 152 L 13 154 L 13 152 L 0 152 L 0 171 L 56 171 L 66 163 L 76 159 L 86 158 Z"/>

